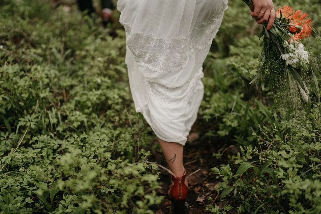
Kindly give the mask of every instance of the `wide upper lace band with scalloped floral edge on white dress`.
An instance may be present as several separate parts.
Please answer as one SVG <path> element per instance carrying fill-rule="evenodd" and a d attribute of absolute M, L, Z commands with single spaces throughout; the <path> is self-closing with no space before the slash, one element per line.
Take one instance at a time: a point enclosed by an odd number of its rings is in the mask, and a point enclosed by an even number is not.
<path fill-rule="evenodd" d="M 136 61 L 152 71 L 165 74 L 169 71 L 175 72 L 182 67 L 186 67 L 189 54 L 194 52 L 194 48 L 204 49 L 207 45 L 212 44 L 212 40 L 221 25 L 224 11 L 227 8 L 228 6 L 210 22 L 202 23 L 197 28 L 195 27 L 188 38 L 183 36 L 172 39 L 168 39 L 165 36 L 156 38 L 153 34 L 132 33 L 129 24 L 123 22 L 122 15 L 120 15 L 119 21 L 129 34 L 127 46 Z"/>

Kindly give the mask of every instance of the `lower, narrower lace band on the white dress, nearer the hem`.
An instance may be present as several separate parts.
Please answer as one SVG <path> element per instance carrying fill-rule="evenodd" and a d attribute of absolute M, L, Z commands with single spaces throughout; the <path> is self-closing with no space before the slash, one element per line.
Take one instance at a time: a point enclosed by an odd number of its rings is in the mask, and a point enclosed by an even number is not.
<path fill-rule="evenodd" d="M 145 84 L 148 88 L 148 92 L 160 103 L 167 103 L 172 106 L 182 106 L 182 102 L 188 102 L 192 96 L 193 89 L 203 76 L 203 68 L 200 68 L 189 81 L 179 87 L 169 88 L 164 85 L 160 85 L 145 80 Z"/>

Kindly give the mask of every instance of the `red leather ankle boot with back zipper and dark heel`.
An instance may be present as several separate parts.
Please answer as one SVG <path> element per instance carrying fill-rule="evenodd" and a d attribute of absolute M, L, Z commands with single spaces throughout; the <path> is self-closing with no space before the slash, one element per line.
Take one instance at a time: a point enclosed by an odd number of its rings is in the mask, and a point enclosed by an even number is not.
<path fill-rule="evenodd" d="M 169 174 L 170 180 L 174 183 L 169 186 L 168 195 L 173 199 L 174 213 L 185 214 L 185 199 L 187 197 L 187 186 L 185 184 L 186 171 L 182 176 Z"/>

